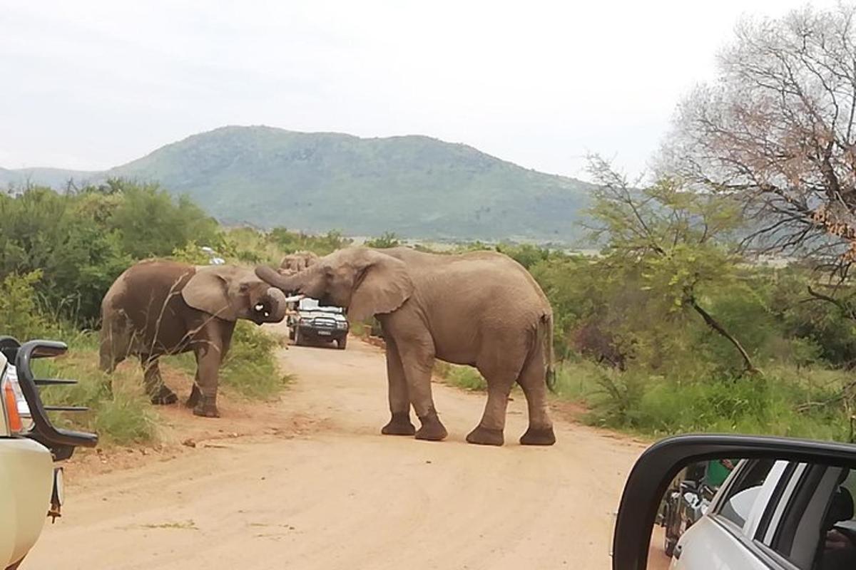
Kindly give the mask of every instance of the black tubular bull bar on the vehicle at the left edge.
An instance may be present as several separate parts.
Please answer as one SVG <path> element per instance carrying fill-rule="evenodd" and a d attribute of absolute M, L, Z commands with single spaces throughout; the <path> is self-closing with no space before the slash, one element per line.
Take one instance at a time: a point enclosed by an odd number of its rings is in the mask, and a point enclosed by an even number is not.
<path fill-rule="evenodd" d="M 15 362 L 21 392 L 27 400 L 30 414 L 33 416 L 33 429 L 23 435 L 51 450 L 54 460 L 63 461 L 71 457 L 75 447 L 95 447 L 98 435 L 95 433 L 73 432 L 55 427 L 48 418 L 48 412 L 86 412 L 88 408 L 78 406 L 45 406 L 39 397 L 39 386 L 73 385 L 77 380 L 37 379 L 30 362 L 35 358 L 53 358 L 68 350 L 68 345 L 53 340 L 31 340 L 21 344 L 12 337 L 0 337 L 0 352 L 9 362 Z"/>

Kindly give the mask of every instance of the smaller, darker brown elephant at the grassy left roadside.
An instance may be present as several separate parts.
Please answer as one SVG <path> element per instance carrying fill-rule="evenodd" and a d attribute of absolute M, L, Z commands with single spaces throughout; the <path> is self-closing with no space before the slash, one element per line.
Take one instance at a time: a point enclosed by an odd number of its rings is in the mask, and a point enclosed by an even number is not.
<path fill-rule="evenodd" d="M 282 291 L 252 269 L 140 261 L 110 285 L 101 303 L 99 367 L 112 373 L 126 357 L 139 356 L 146 394 L 154 404 L 171 404 L 178 397 L 163 384 L 158 358 L 193 351 L 196 378 L 187 407 L 218 417 L 217 377 L 235 321 L 275 323 L 285 310 Z"/>

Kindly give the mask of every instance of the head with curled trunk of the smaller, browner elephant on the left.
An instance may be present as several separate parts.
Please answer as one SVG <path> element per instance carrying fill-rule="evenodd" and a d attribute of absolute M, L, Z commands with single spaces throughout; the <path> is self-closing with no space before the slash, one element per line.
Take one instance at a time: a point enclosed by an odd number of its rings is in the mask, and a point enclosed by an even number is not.
<path fill-rule="evenodd" d="M 285 318 L 285 295 L 244 267 L 197 267 L 181 289 L 185 303 L 223 320 L 247 319 L 257 325 Z"/>

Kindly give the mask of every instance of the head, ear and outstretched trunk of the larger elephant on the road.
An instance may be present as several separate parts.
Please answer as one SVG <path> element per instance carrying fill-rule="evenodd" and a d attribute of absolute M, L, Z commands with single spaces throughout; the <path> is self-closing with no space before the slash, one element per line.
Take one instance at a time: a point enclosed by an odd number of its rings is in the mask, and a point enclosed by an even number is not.
<path fill-rule="evenodd" d="M 290 276 L 266 266 L 256 267 L 256 275 L 288 294 L 344 307 L 348 317 L 357 321 L 391 313 L 413 294 L 413 282 L 403 261 L 360 247 L 321 257 Z"/>

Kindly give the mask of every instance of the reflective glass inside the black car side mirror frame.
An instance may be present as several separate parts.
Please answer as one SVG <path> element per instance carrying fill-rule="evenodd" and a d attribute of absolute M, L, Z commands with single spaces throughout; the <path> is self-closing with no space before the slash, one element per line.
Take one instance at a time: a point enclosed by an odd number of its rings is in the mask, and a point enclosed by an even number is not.
<path fill-rule="evenodd" d="M 647 567 L 856 570 L 853 497 L 856 465 L 693 463 L 663 495 Z"/>

